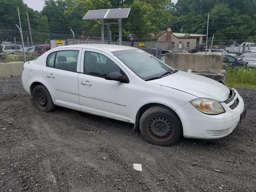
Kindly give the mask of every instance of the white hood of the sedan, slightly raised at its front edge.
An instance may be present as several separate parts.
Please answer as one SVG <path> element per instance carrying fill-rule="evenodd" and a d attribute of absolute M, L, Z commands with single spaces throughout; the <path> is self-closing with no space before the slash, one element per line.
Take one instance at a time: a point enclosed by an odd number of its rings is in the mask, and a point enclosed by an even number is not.
<path fill-rule="evenodd" d="M 184 71 L 178 71 L 149 82 L 187 92 L 199 98 L 211 98 L 219 102 L 227 100 L 230 94 L 229 88 L 220 82 Z"/>

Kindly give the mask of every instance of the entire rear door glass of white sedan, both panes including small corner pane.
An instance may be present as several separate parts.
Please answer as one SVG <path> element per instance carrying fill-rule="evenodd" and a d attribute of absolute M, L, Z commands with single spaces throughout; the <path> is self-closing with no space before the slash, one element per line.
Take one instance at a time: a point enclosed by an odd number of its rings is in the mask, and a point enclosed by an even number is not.
<path fill-rule="evenodd" d="M 48 55 L 46 66 L 76 72 L 78 50 L 57 51 Z"/>

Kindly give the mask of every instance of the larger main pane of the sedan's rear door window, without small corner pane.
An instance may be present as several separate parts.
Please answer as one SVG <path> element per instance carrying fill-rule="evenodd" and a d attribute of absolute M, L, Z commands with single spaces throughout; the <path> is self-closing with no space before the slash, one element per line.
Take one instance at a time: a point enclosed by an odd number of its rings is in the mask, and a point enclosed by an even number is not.
<path fill-rule="evenodd" d="M 67 50 L 56 53 L 55 65 L 57 69 L 76 72 L 79 51 Z"/>

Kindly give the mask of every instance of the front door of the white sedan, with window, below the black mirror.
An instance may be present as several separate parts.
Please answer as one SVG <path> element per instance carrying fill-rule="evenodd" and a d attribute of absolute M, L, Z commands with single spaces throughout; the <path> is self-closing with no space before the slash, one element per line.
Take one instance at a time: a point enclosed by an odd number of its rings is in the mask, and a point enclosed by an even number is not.
<path fill-rule="evenodd" d="M 130 121 L 132 78 L 122 65 L 104 52 L 83 49 L 81 72 L 78 76 L 81 109 Z M 120 72 L 130 82 L 105 80 L 110 72 Z"/>

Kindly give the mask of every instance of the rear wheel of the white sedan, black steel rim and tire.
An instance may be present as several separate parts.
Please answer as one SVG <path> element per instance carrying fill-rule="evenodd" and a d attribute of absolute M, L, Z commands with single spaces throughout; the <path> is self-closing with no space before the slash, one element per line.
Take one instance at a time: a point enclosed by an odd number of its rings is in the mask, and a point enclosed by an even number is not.
<path fill-rule="evenodd" d="M 34 104 L 39 111 L 51 112 L 56 108 L 49 91 L 43 85 L 38 85 L 34 88 L 32 97 Z"/>

